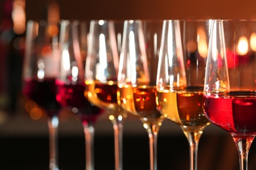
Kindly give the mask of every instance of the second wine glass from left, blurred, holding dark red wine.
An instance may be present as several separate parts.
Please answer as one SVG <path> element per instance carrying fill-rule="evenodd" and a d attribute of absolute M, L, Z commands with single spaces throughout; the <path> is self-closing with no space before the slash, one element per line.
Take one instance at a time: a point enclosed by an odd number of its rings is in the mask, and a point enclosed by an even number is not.
<path fill-rule="evenodd" d="M 60 24 L 60 75 L 56 80 L 56 99 L 81 120 L 85 133 L 86 169 L 94 166 L 94 125 L 102 110 L 84 95 L 85 59 L 89 22 L 62 20 Z"/>

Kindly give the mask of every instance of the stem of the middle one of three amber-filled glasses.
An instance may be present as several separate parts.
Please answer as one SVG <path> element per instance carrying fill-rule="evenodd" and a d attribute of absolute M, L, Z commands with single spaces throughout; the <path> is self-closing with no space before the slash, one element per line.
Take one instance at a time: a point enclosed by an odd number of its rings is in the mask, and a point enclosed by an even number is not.
<path fill-rule="evenodd" d="M 158 169 L 157 165 L 157 141 L 158 131 L 160 126 L 158 124 L 148 124 L 146 130 L 148 131 L 150 144 L 150 170 Z"/>

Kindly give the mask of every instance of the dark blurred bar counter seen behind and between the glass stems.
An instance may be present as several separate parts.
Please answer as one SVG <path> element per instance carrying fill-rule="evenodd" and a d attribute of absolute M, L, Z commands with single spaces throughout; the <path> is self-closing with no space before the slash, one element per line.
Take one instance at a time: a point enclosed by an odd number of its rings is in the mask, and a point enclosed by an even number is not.
<path fill-rule="evenodd" d="M 85 169 L 83 127 L 72 114 L 60 114 L 60 169 Z M 0 114 L 0 169 L 49 169 L 46 118 L 26 113 Z M 256 144 L 249 152 L 249 169 L 256 169 Z M 114 131 L 107 115 L 95 124 L 95 169 L 114 169 Z M 150 169 L 148 135 L 140 120 L 129 115 L 123 128 L 123 169 Z M 188 141 L 181 127 L 164 120 L 158 135 L 158 169 L 189 169 Z M 198 170 L 239 169 L 232 137 L 223 129 L 205 127 L 198 147 Z"/>

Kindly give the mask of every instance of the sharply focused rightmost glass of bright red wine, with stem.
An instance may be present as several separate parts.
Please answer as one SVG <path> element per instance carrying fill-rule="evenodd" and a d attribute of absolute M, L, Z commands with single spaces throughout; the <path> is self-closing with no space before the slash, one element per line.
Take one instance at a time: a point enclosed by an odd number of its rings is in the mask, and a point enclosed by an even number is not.
<path fill-rule="evenodd" d="M 247 169 L 256 135 L 256 21 L 215 20 L 205 71 L 205 116 L 236 143 L 240 169 Z"/>

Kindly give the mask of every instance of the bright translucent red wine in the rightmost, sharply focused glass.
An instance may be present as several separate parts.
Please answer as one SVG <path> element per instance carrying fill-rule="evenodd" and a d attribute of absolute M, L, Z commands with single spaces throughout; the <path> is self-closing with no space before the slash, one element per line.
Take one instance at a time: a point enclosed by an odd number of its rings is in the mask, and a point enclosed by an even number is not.
<path fill-rule="evenodd" d="M 256 92 L 203 96 L 205 116 L 230 133 L 256 135 Z"/>

